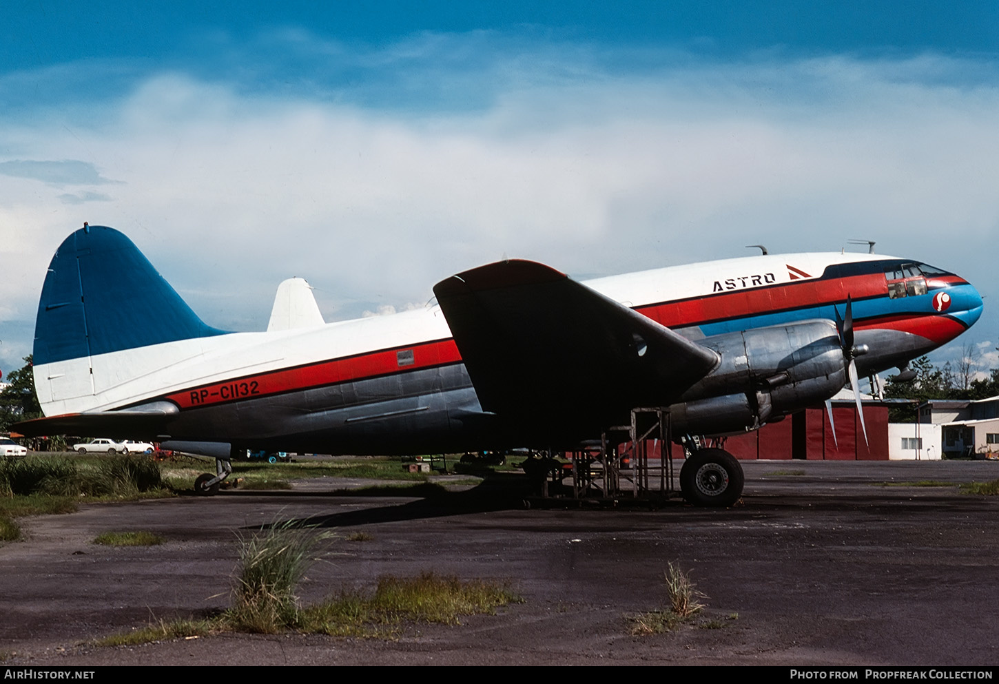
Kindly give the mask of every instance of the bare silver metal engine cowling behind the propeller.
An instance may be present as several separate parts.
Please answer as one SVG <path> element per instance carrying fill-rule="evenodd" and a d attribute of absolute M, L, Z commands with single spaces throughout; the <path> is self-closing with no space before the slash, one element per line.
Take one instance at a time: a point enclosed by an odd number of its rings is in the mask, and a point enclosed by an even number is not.
<path fill-rule="evenodd" d="M 846 359 L 831 321 L 805 321 L 699 340 L 718 366 L 671 405 L 678 434 L 723 434 L 759 427 L 839 391 Z"/>

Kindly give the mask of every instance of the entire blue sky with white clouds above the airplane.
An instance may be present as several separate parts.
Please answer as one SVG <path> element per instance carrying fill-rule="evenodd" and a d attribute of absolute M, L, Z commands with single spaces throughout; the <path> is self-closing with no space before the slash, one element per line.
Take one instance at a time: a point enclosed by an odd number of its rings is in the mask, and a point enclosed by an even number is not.
<path fill-rule="evenodd" d="M 967 278 L 999 367 L 995 2 L 0 7 L 0 370 L 84 221 L 211 326 L 327 321 L 506 257 L 575 278 L 865 250 Z"/>

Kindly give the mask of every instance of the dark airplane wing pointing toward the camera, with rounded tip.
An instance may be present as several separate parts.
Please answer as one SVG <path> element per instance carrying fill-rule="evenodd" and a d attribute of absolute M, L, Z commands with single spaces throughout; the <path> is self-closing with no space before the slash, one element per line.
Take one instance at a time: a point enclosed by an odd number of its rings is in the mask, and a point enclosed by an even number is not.
<path fill-rule="evenodd" d="M 614 420 L 670 403 L 719 360 L 533 262 L 466 271 L 434 293 L 483 408 L 504 417 Z"/>

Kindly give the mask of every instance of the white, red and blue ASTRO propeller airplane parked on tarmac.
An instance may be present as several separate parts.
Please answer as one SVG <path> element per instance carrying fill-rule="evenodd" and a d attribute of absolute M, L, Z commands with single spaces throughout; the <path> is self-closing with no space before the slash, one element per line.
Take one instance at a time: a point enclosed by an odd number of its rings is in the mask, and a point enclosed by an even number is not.
<path fill-rule="evenodd" d="M 763 255 L 576 282 L 504 260 L 447 278 L 436 304 L 327 324 L 282 284 L 268 332 L 212 328 L 122 233 L 84 225 L 42 288 L 26 435 L 129 434 L 216 457 L 245 449 L 412 454 L 574 450 L 667 407 L 680 489 L 727 506 L 738 461 L 696 435 L 760 427 L 953 340 L 978 292 L 870 254 Z M 859 400 L 858 400 L 859 404 Z M 859 406 L 858 406 L 859 407 Z"/>

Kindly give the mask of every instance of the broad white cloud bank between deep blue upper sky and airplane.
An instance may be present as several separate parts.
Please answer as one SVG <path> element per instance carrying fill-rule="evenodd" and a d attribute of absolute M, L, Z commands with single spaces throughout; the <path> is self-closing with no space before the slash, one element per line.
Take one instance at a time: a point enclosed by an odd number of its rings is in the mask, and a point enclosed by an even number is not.
<path fill-rule="evenodd" d="M 515 73 L 469 111 L 247 95 L 171 73 L 86 121 L 7 122 L 0 150 L 82 160 L 123 184 L 75 187 L 83 204 L 41 181 L 0 184 L 3 261 L 16 262 L 0 296 L 32 319 L 48 259 L 83 221 L 130 235 L 224 328 L 265 328 L 287 277 L 308 278 L 331 321 L 429 299 L 504 255 L 595 276 L 862 238 L 995 288 L 999 86 L 955 85 L 975 63 L 610 75 L 528 62 L 493 65 Z"/>

